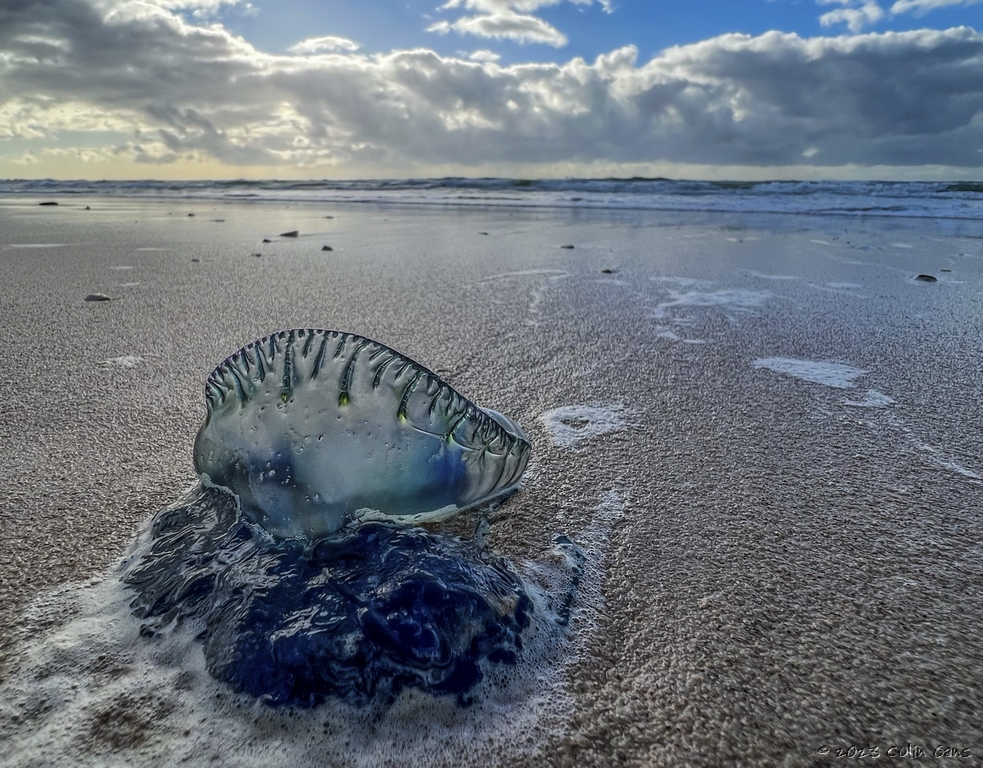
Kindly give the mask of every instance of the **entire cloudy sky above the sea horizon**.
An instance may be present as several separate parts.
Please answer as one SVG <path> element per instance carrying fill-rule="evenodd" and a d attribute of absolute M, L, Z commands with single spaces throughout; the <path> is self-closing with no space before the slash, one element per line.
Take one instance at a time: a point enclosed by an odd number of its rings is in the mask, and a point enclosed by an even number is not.
<path fill-rule="evenodd" d="M 0 178 L 983 178 L 983 0 L 0 0 Z"/>

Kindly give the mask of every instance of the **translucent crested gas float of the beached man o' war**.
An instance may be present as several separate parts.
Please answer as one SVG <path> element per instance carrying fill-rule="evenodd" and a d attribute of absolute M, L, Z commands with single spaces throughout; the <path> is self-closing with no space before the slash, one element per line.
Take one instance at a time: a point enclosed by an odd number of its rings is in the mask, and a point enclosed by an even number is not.
<path fill-rule="evenodd" d="M 195 467 L 277 537 L 316 538 L 369 515 L 419 522 L 514 490 L 521 428 L 389 347 L 281 331 L 205 384 Z"/>

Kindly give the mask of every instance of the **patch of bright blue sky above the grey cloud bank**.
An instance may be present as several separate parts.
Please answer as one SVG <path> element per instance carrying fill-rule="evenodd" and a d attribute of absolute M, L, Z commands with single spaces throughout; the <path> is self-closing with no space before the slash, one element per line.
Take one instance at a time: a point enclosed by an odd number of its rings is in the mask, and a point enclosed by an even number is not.
<path fill-rule="evenodd" d="M 904 2 L 904 0 L 902 0 Z M 912 0 L 907 0 L 909 5 Z M 918 0 L 915 0 L 916 2 Z M 950 5 L 940 3 L 950 2 Z M 359 52 L 386 53 L 396 49 L 429 48 L 444 56 L 489 50 L 502 64 L 567 61 L 598 55 L 625 45 L 638 48 L 647 61 L 675 45 L 687 45 L 729 33 L 752 36 L 771 30 L 801 37 L 832 36 L 852 32 L 906 31 L 926 27 L 946 29 L 970 26 L 983 29 L 983 3 L 973 0 L 922 0 L 905 10 L 901 3 L 873 0 L 615 0 L 608 13 L 598 2 L 559 2 L 541 7 L 533 15 L 566 38 L 566 44 L 517 42 L 461 34 L 428 32 L 440 21 L 453 22 L 474 11 L 442 8 L 435 0 L 253 0 L 224 6 L 217 15 L 228 29 L 260 50 L 286 53 L 312 37 L 337 36 L 355 41 Z M 924 3 L 934 6 L 925 5 Z M 846 17 L 820 19 L 838 11 L 876 9 L 853 30 Z M 903 12 L 892 13 L 892 7 Z"/>

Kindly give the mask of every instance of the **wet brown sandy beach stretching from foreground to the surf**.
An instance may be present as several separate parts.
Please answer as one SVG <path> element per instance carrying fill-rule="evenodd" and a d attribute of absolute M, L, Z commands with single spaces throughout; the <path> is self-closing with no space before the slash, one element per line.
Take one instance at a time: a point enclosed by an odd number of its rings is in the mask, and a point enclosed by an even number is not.
<path fill-rule="evenodd" d="M 387 731 L 360 758 L 337 731 L 291 752 L 248 707 L 229 741 L 200 707 L 185 718 L 180 687 L 143 719 L 106 715 L 110 683 L 85 670 L 73 702 L 10 694 L 71 645 L 48 590 L 64 605 L 65 585 L 111 581 L 195 482 L 208 373 L 288 328 L 377 339 L 516 419 L 533 459 L 490 546 L 544 561 L 562 534 L 592 558 L 576 636 L 528 682 L 547 701 L 527 730 L 414 754 L 983 759 L 983 223 L 37 202 L 0 205 L 0 765 L 403 758 Z"/>

